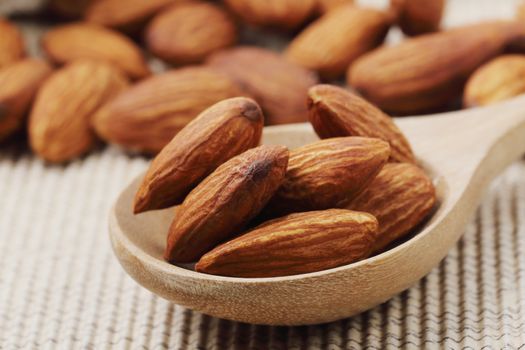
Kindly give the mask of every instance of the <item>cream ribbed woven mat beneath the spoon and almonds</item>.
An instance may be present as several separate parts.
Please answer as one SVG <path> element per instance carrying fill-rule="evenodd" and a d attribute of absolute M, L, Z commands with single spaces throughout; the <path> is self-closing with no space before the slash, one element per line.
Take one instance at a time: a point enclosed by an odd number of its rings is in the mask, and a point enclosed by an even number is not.
<path fill-rule="evenodd" d="M 508 17 L 514 5 L 451 1 L 446 21 Z M 464 238 L 416 286 L 309 327 L 204 316 L 131 280 L 107 216 L 146 166 L 112 147 L 65 167 L 0 152 L 0 349 L 525 349 L 524 161 L 495 180 Z"/>

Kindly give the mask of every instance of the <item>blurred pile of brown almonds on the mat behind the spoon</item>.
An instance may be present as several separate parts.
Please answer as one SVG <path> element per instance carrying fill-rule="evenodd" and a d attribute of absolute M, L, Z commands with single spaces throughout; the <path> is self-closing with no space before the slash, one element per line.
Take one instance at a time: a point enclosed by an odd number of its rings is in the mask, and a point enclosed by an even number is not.
<path fill-rule="evenodd" d="M 345 77 L 392 115 L 524 92 L 525 25 L 440 31 L 444 8 L 445 0 L 391 0 L 387 9 L 352 0 L 49 0 L 44 58 L 27 57 L 20 30 L 0 19 L 0 141 L 27 130 L 32 150 L 54 163 L 101 141 L 157 154 L 227 98 L 254 99 L 267 125 L 306 122 L 308 89 Z M 395 25 L 409 38 L 382 46 Z M 276 52 L 253 46 L 253 32 L 290 40 Z M 153 74 L 151 56 L 173 68 Z"/>

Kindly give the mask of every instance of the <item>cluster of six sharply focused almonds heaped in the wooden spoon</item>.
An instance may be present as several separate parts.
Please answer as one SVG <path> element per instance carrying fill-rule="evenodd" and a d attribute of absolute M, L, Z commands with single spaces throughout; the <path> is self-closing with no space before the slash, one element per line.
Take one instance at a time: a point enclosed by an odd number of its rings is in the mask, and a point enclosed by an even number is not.
<path fill-rule="evenodd" d="M 258 146 L 263 112 L 246 97 L 209 107 L 162 149 L 134 212 L 176 206 L 166 260 L 235 277 L 314 272 L 424 221 L 434 186 L 388 115 L 333 85 L 311 87 L 307 106 L 321 140 L 297 149 Z"/>

